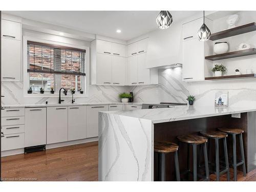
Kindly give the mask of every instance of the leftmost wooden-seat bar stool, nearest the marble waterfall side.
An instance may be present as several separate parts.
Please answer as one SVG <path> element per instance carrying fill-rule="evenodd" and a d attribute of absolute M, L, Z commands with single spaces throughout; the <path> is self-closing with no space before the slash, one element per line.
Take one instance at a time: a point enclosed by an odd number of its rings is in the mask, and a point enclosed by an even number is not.
<path fill-rule="evenodd" d="M 158 172 L 161 167 L 161 181 L 165 181 L 165 154 L 174 152 L 175 172 L 176 180 L 180 181 L 180 169 L 178 160 L 178 148 L 179 146 L 173 142 L 168 141 L 155 141 L 154 151 L 158 153 L 160 159 L 160 165 L 158 165 Z"/>

